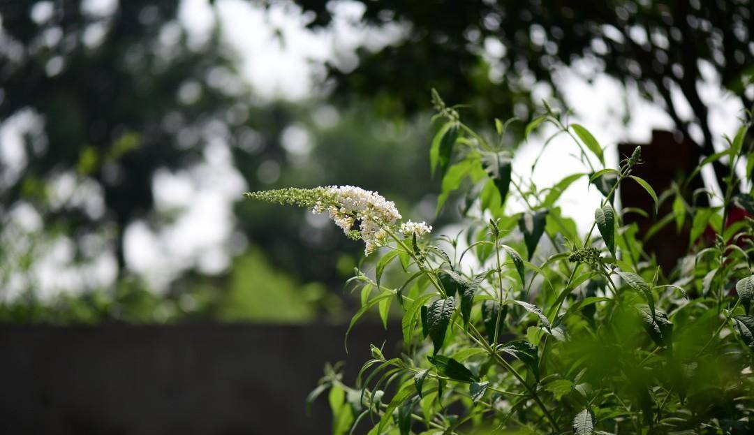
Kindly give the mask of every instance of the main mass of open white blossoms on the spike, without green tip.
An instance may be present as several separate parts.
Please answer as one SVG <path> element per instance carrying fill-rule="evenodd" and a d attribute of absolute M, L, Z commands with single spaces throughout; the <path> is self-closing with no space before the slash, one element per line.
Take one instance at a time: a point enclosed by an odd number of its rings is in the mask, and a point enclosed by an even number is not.
<path fill-rule="evenodd" d="M 388 237 L 383 227 L 394 224 L 401 217 L 393 201 L 387 201 L 373 191 L 352 185 L 332 185 L 326 187 L 325 192 L 328 199 L 337 205 L 317 201 L 311 211 L 327 212 L 349 237 L 354 235 L 354 222 L 359 221 L 358 235 L 366 244 L 364 254 L 367 256 Z"/>

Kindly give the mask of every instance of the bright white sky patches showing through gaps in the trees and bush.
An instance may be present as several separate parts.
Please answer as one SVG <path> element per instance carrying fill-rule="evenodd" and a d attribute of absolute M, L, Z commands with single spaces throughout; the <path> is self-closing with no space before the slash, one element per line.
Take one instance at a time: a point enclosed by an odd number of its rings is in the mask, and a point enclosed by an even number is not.
<path fill-rule="evenodd" d="M 112 10 L 117 0 L 88 0 L 92 11 Z M 241 70 L 259 100 L 286 98 L 290 100 L 320 96 L 319 84 L 324 71 L 321 64 L 328 61 L 348 70 L 356 65 L 356 47 L 379 48 L 400 37 L 400 26 L 388 29 L 369 29 L 358 22 L 362 7 L 352 2 L 337 2 L 333 6 L 335 20 L 332 29 L 312 31 L 305 26 L 311 20 L 293 2 L 280 2 L 267 10 L 256 2 L 247 0 L 218 0 L 216 14 L 207 0 L 182 0 L 179 24 L 190 32 L 190 43 L 200 46 L 206 41 L 216 17 L 222 25 L 222 35 L 234 47 L 240 58 Z M 490 46 L 490 50 L 495 47 Z M 577 68 L 588 68 L 586 64 Z M 703 100 L 710 106 L 713 135 L 733 135 L 742 107 L 737 99 L 720 90 L 719 78 L 711 68 L 702 68 L 706 82 L 700 84 Z M 608 164 L 618 161 L 615 146 L 618 142 L 648 142 L 651 130 L 668 129 L 672 122 L 668 115 L 639 96 L 636 89 L 624 90 L 617 81 L 606 76 L 588 83 L 575 69 L 562 69 L 557 84 L 566 96 L 567 105 L 574 110 L 573 121 L 584 124 L 596 139 L 606 147 Z M 619 98 L 627 95 L 627 105 Z M 538 100 L 547 93 L 538 95 Z M 673 97 L 682 102 L 676 92 Z M 259 102 L 256 102 L 259 103 Z M 626 112 L 630 122 L 622 124 Z M 690 109 L 681 111 L 682 117 L 691 115 Z M 31 114 L 23 115 L 32 117 Z M 4 161 L 23 160 L 18 152 L 20 127 L 23 120 L 5 122 L 0 128 L 0 158 Z M 23 124 L 23 123 L 21 123 Z M 551 130 L 549 130 L 551 132 Z M 530 137 L 514 158 L 516 175 L 528 178 L 528 169 L 544 142 L 548 130 Z M 192 265 L 207 273 L 222 271 L 230 256 L 241 252 L 245 240 L 234 234 L 232 204 L 246 189 L 240 174 L 234 169 L 228 144 L 221 135 L 204 138 L 210 146 L 205 152 L 206 161 L 197 167 L 177 172 L 161 171 L 155 176 L 154 189 L 158 209 L 182 210 L 173 225 L 149 228 L 145 222 L 136 222 L 127 231 L 127 260 L 155 288 L 161 289 L 185 268 Z M 718 144 L 720 146 L 720 144 Z M 581 163 L 572 157 L 574 146 L 565 136 L 556 139 L 541 158 L 532 176 L 539 186 L 553 185 L 570 173 L 581 170 Z M 524 171 L 524 172 L 521 172 Z M 709 174 L 706 174 L 709 176 Z M 563 211 L 573 216 L 581 231 L 586 231 L 593 219 L 593 210 L 599 202 L 596 189 L 587 195 L 587 180 L 581 179 L 563 195 Z M 511 208 L 515 209 L 516 204 Z M 28 210 L 27 210 L 28 211 Z M 28 214 L 28 213 L 27 213 Z M 28 217 L 28 216 L 27 216 Z M 61 283 L 65 265 L 60 259 L 66 249 L 59 247 L 51 252 L 40 273 L 50 277 L 43 280 L 45 288 L 54 292 L 61 286 L 75 288 L 78 280 L 71 277 Z M 100 281 L 115 276 L 115 261 L 105 258 L 97 265 Z M 73 276 L 72 274 L 70 274 Z"/>

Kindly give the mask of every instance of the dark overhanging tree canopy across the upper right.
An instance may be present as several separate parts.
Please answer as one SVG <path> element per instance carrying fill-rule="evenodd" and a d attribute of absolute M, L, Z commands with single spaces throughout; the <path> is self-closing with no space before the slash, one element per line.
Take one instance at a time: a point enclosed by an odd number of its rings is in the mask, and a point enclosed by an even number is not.
<path fill-rule="evenodd" d="M 425 90 L 431 86 L 449 101 L 474 107 L 477 119 L 531 118 L 538 103 L 532 101 L 532 85 L 552 85 L 556 66 L 581 60 L 590 66 L 584 72 L 588 78 L 605 73 L 636 84 L 686 137 L 699 128 L 705 155 L 715 151 L 708 108 L 697 87 L 704 66 L 716 71 L 744 107 L 752 106 L 754 95 L 745 92 L 754 75 L 749 0 L 360 3 L 364 20 L 405 23 L 406 36 L 382 51 L 362 51 L 355 71 L 331 68 L 330 75 L 341 96 L 370 96 L 389 112 L 428 109 Z M 302 2 L 316 14 L 311 26 L 330 23 L 329 5 Z M 683 118 L 685 103 L 673 98 L 674 90 L 685 96 L 692 119 Z M 552 91 L 559 98 L 555 86 Z M 717 163 L 719 180 L 721 169 Z"/>

